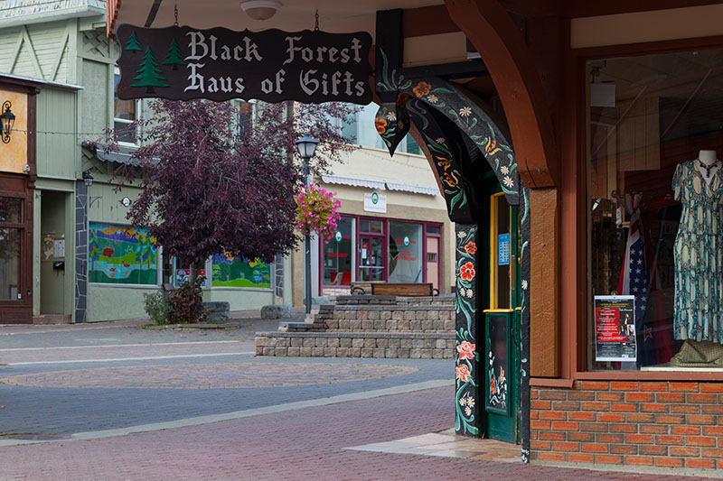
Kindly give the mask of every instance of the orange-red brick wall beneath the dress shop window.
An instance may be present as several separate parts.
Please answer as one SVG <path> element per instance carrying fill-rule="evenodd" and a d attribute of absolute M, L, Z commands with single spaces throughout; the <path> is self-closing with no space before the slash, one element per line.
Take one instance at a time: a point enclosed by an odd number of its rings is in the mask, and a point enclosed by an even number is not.
<path fill-rule="evenodd" d="M 723 469 L 723 383 L 531 387 L 531 459 Z"/>

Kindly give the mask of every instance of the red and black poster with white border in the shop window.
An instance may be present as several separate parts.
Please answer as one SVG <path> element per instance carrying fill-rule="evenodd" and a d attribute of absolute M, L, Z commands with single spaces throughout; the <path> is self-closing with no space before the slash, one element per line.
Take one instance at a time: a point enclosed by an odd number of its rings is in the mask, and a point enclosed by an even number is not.
<path fill-rule="evenodd" d="M 595 296 L 595 360 L 637 360 L 635 296 Z"/>

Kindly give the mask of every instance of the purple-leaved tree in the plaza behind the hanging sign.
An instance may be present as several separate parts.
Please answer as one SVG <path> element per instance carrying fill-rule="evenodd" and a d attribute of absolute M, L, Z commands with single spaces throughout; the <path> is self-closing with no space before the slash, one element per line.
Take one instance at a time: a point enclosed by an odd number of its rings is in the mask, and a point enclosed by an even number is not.
<path fill-rule="evenodd" d="M 190 266 L 191 286 L 212 254 L 268 263 L 296 245 L 294 195 L 303 180 L 296 139 L 308 133 L 320 141 L 315 171 L 353 148 L 334 119 L 348 122 L 354 111 L 338 104 L 258 105 L 252 121 L 207 100 L 158 99 L 149 107 L 155 114 L 134 125 L 145 141 L 133 155 L 139 166 L 116 176 L 143 189 L 127 217 Z"/>

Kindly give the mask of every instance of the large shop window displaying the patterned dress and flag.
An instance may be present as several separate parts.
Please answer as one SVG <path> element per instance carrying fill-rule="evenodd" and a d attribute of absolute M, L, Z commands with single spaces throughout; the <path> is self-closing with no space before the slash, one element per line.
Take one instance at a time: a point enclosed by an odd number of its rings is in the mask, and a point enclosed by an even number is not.
<path fill-rule="evenodd" d="M 723 365 L 723 51 L 587 61 L 591 369 Z"/>

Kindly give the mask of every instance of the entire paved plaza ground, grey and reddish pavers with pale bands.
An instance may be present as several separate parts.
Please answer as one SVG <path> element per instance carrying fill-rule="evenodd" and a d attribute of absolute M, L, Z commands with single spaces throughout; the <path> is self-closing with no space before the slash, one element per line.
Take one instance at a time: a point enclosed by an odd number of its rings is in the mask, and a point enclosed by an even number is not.
<path fill-rule="evenodd" d="M 523 465 L 519 447 L 458 439 L 448 361 L 254 358 L 242 328 L 138 323 L 0 327 L 0 481 L 683 474 Z"/>

